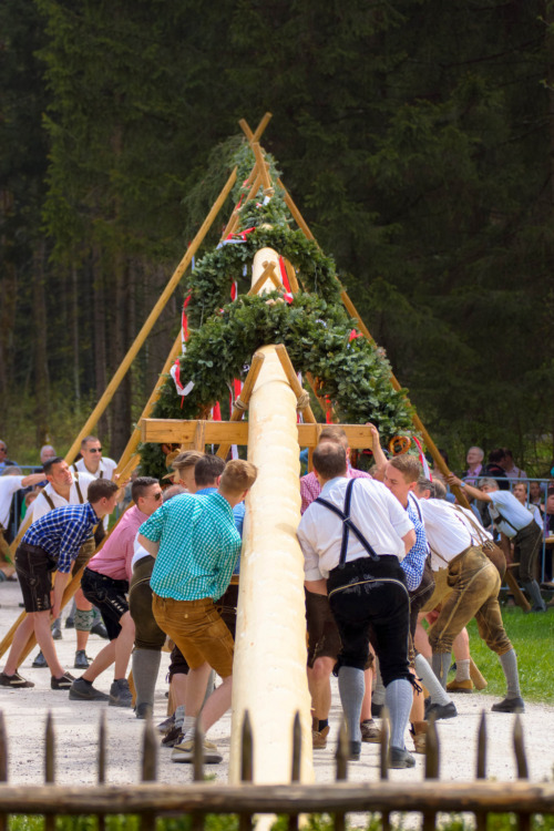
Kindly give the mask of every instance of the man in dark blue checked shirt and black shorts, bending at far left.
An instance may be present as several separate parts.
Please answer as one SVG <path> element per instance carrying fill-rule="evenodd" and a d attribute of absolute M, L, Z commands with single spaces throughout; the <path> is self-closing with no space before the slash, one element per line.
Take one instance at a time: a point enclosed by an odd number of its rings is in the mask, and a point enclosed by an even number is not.
<path fill-rule="evenodd" d="M 117 491 L 114 482 L 98 479 L 89 486 L 88 502 L 57 507 L 33 522 L 23 535 L 16 552 L 16 571 L 27 617 L 13 636 L 8 661 L 0 674 L 0 687 L 22 689 L 34 686 L 18 673 L 21 654 L 33 630 L 52 673 L 51 688 L 71 687 L 74 679 L 58 660 L 50 630 L 51 618 L 55 620 L 60 614 L 63 591 L 81 545 L 92 536 L 99 522 L 112 513 Z M 53 572 L 57 574 L 52 588 Z"/>

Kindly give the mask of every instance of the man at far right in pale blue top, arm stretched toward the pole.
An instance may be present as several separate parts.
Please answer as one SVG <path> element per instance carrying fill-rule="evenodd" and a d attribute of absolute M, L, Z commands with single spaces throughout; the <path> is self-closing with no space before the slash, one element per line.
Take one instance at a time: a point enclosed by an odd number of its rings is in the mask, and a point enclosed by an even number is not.
<path fill-rule="evenodd" d="M 501 491 L 494 479 L 481 479 L 479 488 L 473 488 L 466 483 L 464 485 L 456 476 L 450 476 L 449 484 L 460 484 L 465 488 L 470 499 L 488 503 L 494 526 L 514 544 L 516 562 L 520 563 L 520 581 L 531 597 L 531 611 L 545 612 L 546 604 L 535 579 L 543 532 L 527 509 L 511 491 Z"/>

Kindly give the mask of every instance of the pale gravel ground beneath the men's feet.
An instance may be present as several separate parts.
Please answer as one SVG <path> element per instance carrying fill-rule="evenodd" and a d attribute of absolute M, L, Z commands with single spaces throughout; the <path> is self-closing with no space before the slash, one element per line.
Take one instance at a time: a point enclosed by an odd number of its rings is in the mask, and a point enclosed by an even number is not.
<path fill-rule="evenodd" d="M 17 583 L 0 585 L 0 636 L 3 637 L 19 616 L 21 595 Z M 88 653 L 96 655 L 105 642 L 91 636 Z M 72 629 L 63 629 L 63 639 L 57 642 L 57 649 L 62 665 L 73 675 L 75 635 Z M 48 669 L 32 669 L 31 663 L 37 649 L 20 667 L 21 674 L 35 684 L 33 689 L 0 689 L 0 709 L 3 711 L 9 755 L 9 780 L 12 783 L 40 783 L 44 777 L 44 726 L 47 714 L 52 712 L 57 737 L 57 780 L 68 784 L 92 784 L 96 781 L 98 726 L 102 711 L 106 712 L 107 722 L 107 770 L 109 783 L 137 782 L 140 780 L 141 743 L 144 722 L 134 717 L 132 710 L 109 707 L 102 702 L 70 701 L 68 693 L 50 689 Z M 552 673 L 552 657 L 545 655 L 545 666 Z M 165 718 L 167 699 L 165 691 L 165 673 L 168 656 L 163 655 L 160 671 L 155 722 Z M 0 659 L 3 666 L 4 658 Z M 96 681 L 105 693 L 110 689 L 112 676 L 105 673 Z M 488 712 L 488 776 L 499 781 L 516 779 L 516 767 L 513 753 L 514 716 L 490 712 L 493 697 L 484 693 L 455 696 L 459 716 L 440 721 L 439 740 L 441 746 L 440 776 L 443 780 L 468 781 L 474 778 L 476 756 L 476 733 L 481 712 Z M 340 707 L 338 691 L 334 687 L 334 707 L 331 711 L 331 737 L 327 749 L 314 755 L 314 767 L 317 781 L 335 779 L 335 737 L 338 731 Z M 526 702 L 526 712 L 522 716 L 525 748 L 529 760 L 530 777 L 533 781 L 552 780 L 554 774 L 554 743 L 550 730 L 554 724 L 554 707 Z M 227 779 L 229 751 L 230 716 L 227 715 L 209 733 L 224 755 L 223 763 L 211 766 L 209 773 L 217 780 Z M 407 735 L 407 747 L 411 740 Z M 349 779 L 357 781 L 377 781 L 379 779 L 379 748 L 376 745 L 363 745 L 359 762 L 349 766 Z M 417 757 L 417 766 L 411 770 L 390 771 L 392 780 L 418 781 L 423 778 L 424 758 Z M 171 750 L 160 747 L 158 779 L 163 782 L 188 782 L 192 771 L 187 765 L 171 761 Z"/>

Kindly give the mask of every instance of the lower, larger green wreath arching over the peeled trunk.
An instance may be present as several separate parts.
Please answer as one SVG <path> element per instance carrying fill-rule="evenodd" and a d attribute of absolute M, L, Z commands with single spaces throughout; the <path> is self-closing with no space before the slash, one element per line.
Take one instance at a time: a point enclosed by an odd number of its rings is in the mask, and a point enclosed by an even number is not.
<path fill-rule="evenodd" d="M 154 407 L 153 418 L 194 419 L 203 407 L 228 399 L 228 384 L 245 378 L 254 352 L 267 343 L 284 343 L 296 371 L 310 371 L 322 382 L 343 423 L 372 421 L 382 440 L 411 435 L 411 410 L 404 396 L 390 383 L 384 353 L 366 338 L 350 340 L 355 321 L 341 306 L 321 297 L 299 294 L 289 305 L 279 293 L 239 297 L 192 331 L 181 358 L 181 379 L 194 382 L 183 400 L 170 378 Z M 268 302 L 269 300 L 269 302 Z M 142 466 L 148 475 L 163 475 L 165 460 L 158 444 L 142 448 Z"/>

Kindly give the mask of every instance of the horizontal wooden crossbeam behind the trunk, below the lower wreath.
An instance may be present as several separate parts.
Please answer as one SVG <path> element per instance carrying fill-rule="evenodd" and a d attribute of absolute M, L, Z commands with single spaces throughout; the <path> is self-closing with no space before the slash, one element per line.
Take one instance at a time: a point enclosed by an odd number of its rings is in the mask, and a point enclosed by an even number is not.
<path fill-rule="evenodd" d="M 142 440 L 154 444 L 183 444 L 194 442 L 198 420 L 181 419 L 142 419 Z M 247 421 L 205 421 L 204 440 L 206 444 L 248 444 Z M 302 448 L 315 448 L 318 435 L 325 424 L 298 424 L 298 443 Z M 341 427 L 348 438 L 348 445 L 352 450 L 371 450 L 371 430 L 363 424 L 337 424 Z"/>

